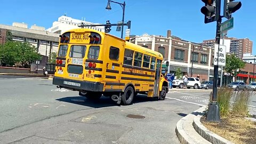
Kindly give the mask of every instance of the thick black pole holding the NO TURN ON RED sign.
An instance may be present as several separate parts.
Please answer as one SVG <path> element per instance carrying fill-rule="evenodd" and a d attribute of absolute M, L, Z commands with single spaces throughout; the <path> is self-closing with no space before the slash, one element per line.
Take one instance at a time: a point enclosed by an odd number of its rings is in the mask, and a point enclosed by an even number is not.
<path fill-rule="evenodd" d="M 217 19 L 216 43 L 219 45 L 220 44 L 220 24 L 221 24 L 221 16 L 220 16 L 221 0 L 216 2 L 217 2 L 216 15 L 219 17 Z M 217 103 L 217 85 L 218 85 L 218 71 L 219 71 L 218 69 L 219 69 L 218 65 L 214 65 L 212 102 L 209 104 L 209 110 L 207 113 L 206 121 L 220 122 L 220 108 Z"/>

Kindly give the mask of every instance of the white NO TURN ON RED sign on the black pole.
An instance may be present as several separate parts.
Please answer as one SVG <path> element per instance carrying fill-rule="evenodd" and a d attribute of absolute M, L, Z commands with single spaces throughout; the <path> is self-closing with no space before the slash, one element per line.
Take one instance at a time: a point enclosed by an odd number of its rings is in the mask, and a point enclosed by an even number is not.
<path fill-rule="evenodd" d="M 215 66 L 226 66 L 226 46 L 214 45 L 214 59 L 213 64 Z"/>

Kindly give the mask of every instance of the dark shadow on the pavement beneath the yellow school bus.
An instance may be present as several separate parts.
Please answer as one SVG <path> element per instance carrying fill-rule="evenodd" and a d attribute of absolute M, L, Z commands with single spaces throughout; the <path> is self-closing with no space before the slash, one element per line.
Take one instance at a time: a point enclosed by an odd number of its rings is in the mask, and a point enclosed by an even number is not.
<path fill-rule="evenodd" d="M 76 105 L 93 107 L 93 108 L 120 106 L 117 103 L 115 103 L 113 100 L 111 100 L 110 97 L 104 97 L 104 96 L 102 96 L 98 100 L 90 100 L 90 99 L 87 99 L 87 98 L 81 97 L 81 96 L 65 97 L 65 98 L 60 98 L 60 99 L 56 99 L 56 100 L 62 101 L 62 102 L 74 103 Z M 140 94 L 138 94 L 133 99 L 133 103 L 148 102 L 148 101 L 157 101 L 157 99 L 156 98 L 148 98 L 147 95 L 140 95 Z"/>

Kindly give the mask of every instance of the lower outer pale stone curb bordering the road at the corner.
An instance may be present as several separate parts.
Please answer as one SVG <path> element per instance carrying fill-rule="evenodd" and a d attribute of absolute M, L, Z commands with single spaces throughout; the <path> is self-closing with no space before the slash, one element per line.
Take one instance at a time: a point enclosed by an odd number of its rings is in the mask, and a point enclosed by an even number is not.
<path fill-rule="evenodd" d="M 199 135 L 193 127 L 194 118 L 197 115 L 202 115 L 205 108 L 206 106 L 199 108 L 178 121 L 175 132 L 181 144 L 211 143 Z"/>

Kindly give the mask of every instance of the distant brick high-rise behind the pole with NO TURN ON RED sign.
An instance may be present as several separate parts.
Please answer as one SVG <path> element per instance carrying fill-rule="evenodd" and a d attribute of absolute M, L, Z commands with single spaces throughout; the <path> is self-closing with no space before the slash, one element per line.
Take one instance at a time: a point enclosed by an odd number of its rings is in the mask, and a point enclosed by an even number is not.
<path fill-rule="evenodd" d="M 230 40 L 230 53 L 236 54 L 236 57 L 243 58 L 244 53 L 252 53 L 252 41 L 249 38 L 226 37 Z M 214 47 L 215 39 L 204 40 L 203 45 Z"/>

